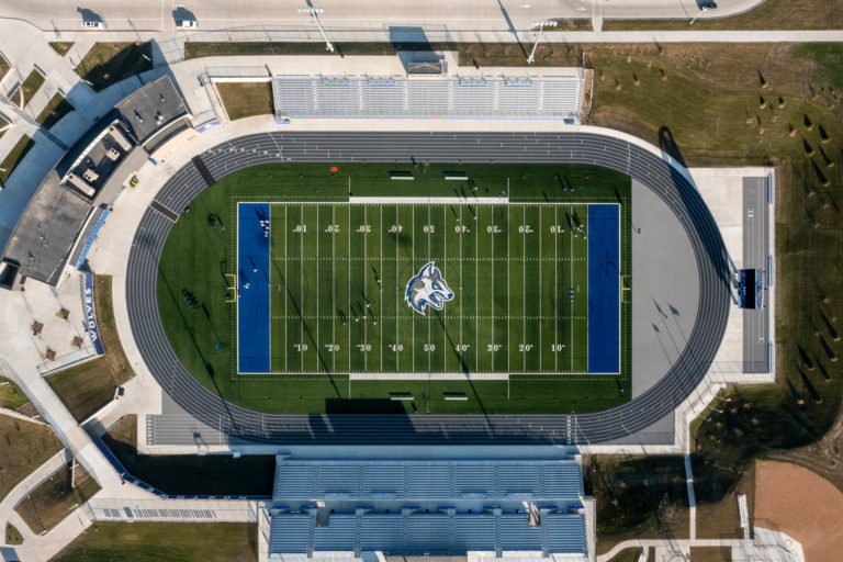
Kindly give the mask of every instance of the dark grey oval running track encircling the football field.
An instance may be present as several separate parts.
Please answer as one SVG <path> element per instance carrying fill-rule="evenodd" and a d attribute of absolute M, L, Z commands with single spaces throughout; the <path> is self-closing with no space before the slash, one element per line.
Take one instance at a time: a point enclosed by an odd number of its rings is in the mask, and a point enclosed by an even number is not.
<path fill-rule="evenodd" d="M 127 263 L 132 333 L 161 387 L 188 413 L 229 435 L 265 443 L 528 443 L 606 442 L 641 430 L 682 403 L 707 372 L 728 319 L 726 252 L 694 187 L 657 156 L 625 140 L 592 133 L 269 133 L 223 143 L 201 155 L 216 179 L 271 161 L 560 161 L 603 165 L 629 173 L 674 212 L 694 248 L 699 313 L 672 369 L 630 403 L 597 414 L 535 416 L 306 416 L 268 415 L 228 404 L 203 387 L 170 347 L 156 305 L 158 259 L 172 221 L 149 207 Z M 179 213 L 206 187 L 193 164 L 164 186 L 156 202 Z"/>

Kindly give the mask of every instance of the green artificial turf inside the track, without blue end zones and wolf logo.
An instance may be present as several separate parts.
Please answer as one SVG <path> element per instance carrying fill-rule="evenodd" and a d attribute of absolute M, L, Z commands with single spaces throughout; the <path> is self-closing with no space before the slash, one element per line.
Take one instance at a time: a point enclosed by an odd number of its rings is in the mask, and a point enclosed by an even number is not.
<path fill-rule="evenodd" d="M 391 179 L 406 175 L 415 179 Z M 164 326 L 206 387 L 258 411 L 612 407 L 630 394 L 630 358 L 621 358 L 619 375 L 586 373 L 587 245 L 570 226 L 587 224 L 589 202 L 620 202 L 627 241 L 629 190 L 627 176 L 593 166 L 344 164 L 334 172 L 326 164 L 255 167 L 206 190 L 173 226 L 158 279 Z M 505 201 L 497 199 L 504 191 L 510 204 L 479 201 Z M 452 202 L 349 204 L 349 193 Z M 225 300 L 233 296 L 231 276 L 237 271 L 238 201 L 273 203 L 271 368 L 283 374 L 237 373 L 236 308 Z M 621 255 L 623 271 L 630 271 L 628 246 Z M 442 270 L 454 300 L 422 316 L 403 295 L 428 260 Z M 573 308 L 569 285 L 576 291 Z M 194 295 L 198 313 L 186 304 L 184 291 Z M 629 306 L 622 305 L 625 341 Z M 349 372 L 395 376 L 351 381 Z M 503 376 L 409 381 L 402 373 Z"/>

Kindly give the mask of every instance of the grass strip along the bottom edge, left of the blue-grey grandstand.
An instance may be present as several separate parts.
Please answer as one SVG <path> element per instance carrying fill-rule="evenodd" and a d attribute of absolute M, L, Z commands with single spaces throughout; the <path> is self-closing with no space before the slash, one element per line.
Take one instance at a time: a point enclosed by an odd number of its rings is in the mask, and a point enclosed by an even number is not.
<path fill-rule="evenodd" d="M 255 562 L 257 524 L 97 522 L 53 562 Z"/>

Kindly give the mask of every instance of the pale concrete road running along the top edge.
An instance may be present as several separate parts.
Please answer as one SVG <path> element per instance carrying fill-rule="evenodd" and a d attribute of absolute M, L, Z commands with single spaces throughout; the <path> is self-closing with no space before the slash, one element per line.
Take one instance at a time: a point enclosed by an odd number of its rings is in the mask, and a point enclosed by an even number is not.
<path fill-rule="evenodd" d="M 700 14 L 698 0 L 314 0 L 324 9 L 322 20 L 330 27 L 382 30 L 392 25 L 441 26 L 451 31 L 529 30 L 547 18 L 679 18 L 724 16 L 762 0 L 719 0 L 718 9 Z M 312 25 L 310 15 L 296 8 L 306 0 L 195 0 L 186 9 L 201 29 L 233 29 L 244 25 Z M 176 2 L 161 0 L 3 0 L 0 18 L 32 22 L 43 30 L 81 30 L 86 18 L 101 19 L 109 30 L 175 29 Z M 314 31 L 316 31 L 314 29 Z"/>

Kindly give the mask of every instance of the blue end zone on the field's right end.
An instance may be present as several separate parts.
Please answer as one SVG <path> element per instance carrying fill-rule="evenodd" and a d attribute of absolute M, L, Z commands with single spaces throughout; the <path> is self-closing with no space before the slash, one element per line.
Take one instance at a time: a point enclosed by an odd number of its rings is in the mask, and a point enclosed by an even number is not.
<path fill-rule="evenodd" d="M 588 205 L 588 372 L 620 371 L 620 207 Z"/>

